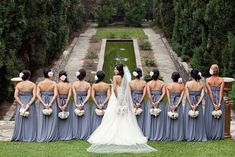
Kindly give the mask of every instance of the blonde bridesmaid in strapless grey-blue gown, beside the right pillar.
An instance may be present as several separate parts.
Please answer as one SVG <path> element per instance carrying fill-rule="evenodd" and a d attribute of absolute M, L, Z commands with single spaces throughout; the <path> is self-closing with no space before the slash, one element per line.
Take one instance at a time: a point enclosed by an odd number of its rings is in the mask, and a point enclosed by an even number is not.
<path fill-rule="evenodd" d="M 211 77 L 206 79 L 207 95 L 205 106 L 205 123 L 208 139 L 224 138 L 224 101 L 223 88 L 224 81 L 219 77 L 219 66 L 213 64 L 210 68 Z M 211 115 L 213 110 L 222 110 L 220 118 Z"/>

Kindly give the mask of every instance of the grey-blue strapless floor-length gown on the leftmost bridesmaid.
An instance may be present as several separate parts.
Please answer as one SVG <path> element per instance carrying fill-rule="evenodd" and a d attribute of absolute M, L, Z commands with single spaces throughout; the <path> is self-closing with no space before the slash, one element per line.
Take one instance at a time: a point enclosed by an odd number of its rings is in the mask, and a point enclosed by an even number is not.
<path fill-rule="evenodd" d="M 29 103 L 32 99 L 32 92 L 20 92 L 19 98 L 23 104 Z M 35 103 L 31 104 L 28 117 L 20 115 L 20 105 L 16 106 L 15 129 L 12 136 L 13 141 L 31 142 L 37 140 L 37 114 Z"/>

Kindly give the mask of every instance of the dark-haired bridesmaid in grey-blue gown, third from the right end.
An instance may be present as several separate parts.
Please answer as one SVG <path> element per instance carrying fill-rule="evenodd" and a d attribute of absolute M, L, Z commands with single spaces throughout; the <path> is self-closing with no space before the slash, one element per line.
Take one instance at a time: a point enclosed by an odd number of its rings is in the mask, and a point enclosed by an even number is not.
<path fill-rule="evenodd" d="M 182 99 L 184 96 L 184 85 L 182 78 L 178 72 L 173 72 L 171 75 L 172 83 L 167 84 L 167 111 L 176 111 L 178 113 L 177 119 L 172 119 L 167 116 L 166 122 L 166 138 L 167 140 L 183 141 L 184 140 L 184 114 Z"/>

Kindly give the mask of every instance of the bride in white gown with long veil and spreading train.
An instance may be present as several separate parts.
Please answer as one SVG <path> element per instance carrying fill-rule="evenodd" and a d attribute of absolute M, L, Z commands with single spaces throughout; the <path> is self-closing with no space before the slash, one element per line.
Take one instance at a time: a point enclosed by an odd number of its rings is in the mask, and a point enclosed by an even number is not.
<path fill-rule="evenodd" d="M 87 149 L 95 153 L 151 152 L 147 138 L 134 115 L 129 89 L 131 75 L 127 67 L 117 64 L 114 69 L 113 92 L 100 126 L 88 139 Z"/>

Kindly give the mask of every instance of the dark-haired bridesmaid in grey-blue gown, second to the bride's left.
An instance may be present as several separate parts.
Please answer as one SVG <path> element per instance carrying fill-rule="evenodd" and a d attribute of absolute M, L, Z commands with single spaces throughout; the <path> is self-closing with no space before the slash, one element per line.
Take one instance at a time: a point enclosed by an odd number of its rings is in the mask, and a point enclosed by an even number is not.
<path fill-rule="evenodd" d="M 86 76 L 86 71 L 80 69 L 76 72 L 78 81 L 73 83 L 73 96 L 74 96 L 74 105 L 73 105 L 73 138 L 75 139 L 88 139 L 90 136 L 90 107 L 88 104 L 88 99 L 91 93 L 90 83 L 84 80 Z M 74 110 L 78 108 L 84 110 L 84 115 L 77 116 L 74 113 Z"/>

